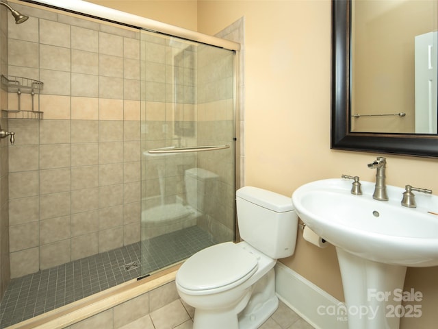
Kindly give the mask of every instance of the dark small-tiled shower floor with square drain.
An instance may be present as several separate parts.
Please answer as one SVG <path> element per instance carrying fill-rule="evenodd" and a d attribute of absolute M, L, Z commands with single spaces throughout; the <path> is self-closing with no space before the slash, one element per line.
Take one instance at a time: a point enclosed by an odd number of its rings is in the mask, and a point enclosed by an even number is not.
<path fill-rule="evenodd" d="M 0 328 L 162 269 L 210 245 L 211 235 L 192 226 L 12 279 L 0 302 Z M 140 267 L 127 271 L 125 265 L 133 262 Z"/>

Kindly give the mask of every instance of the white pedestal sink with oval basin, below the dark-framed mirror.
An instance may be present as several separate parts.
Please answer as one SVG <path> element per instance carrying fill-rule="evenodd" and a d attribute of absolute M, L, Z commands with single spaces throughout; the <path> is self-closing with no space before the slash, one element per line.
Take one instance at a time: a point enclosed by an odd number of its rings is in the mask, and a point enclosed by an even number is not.
<path fill-rule="evenodd" d="M 292 202 L 302 221 L 336 247 L 348 328 L 398 329 L 401 317 L 421 315 L 421 292 L 403 291 L 407 267 L 438 265 L 438 197 L 416 193 L 417 208 L 406 208 L 404 188 L 387 186 L 389 201 L 381 202 L 372 198 L 374 183 L 361 182 L 363 195 L 352 195 L 351 184 L 311 182 Z"/>

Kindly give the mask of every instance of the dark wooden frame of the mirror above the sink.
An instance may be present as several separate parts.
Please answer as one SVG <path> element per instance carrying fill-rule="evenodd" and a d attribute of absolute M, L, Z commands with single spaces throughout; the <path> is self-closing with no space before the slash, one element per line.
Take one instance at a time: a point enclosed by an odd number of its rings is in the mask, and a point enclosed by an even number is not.
<path fill-rule="evenodd" d="M 331 149 L 438 157 L 438 135 L 350 132 L 351 0 L 332 0 Z"/>

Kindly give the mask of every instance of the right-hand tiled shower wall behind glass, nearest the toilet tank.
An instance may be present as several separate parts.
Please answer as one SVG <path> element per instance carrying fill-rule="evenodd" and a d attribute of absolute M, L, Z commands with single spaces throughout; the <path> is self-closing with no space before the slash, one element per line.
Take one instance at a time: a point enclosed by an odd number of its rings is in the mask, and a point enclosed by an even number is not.
<path fill-rule="evenodd" d="M 198 144 L 232 146 L 198 154 L 198 167 L 219 177 L 218 186 L 209 190 L 205 200 L 207 216 L 202 221 L 217 241 L 234 236 L 234 57 L 231 51 L 214 47 L 198 50 Z"/>

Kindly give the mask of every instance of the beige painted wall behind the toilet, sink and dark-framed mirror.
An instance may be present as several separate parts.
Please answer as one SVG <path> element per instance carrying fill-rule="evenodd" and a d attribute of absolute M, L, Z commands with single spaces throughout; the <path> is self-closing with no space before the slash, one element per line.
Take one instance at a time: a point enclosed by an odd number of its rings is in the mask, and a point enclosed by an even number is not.
<path fill-rule="evenodd" d="M 214 13 L 214 14 L 212 14 Z M 198 32 L 215 34 L 245 18 L 246 184 L 292 195 L 305 182 L 342 173 L 374 181 L 366 166 L 381 154 L 330 149 L 331 1 L 199 1 Z M 438 160 L 387 156 L 387 182 L 438 191 Z M 343 299 L 335 249 L 301 238 L 282 260 Z M 438 267 L 408 269 L 406 289 L 424 293 L 422 317 L 401 328 L 430 328 L 437 321 Z"/>

